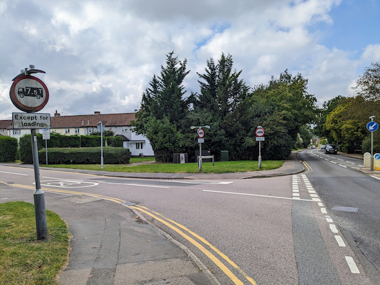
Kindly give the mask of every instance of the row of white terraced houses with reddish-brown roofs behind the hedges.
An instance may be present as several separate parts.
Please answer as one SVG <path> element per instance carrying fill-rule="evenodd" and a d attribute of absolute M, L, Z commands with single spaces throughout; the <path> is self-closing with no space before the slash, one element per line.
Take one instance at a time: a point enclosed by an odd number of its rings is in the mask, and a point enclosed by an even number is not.
<path fill-rule="evenodd" d="M 153 156 L 153 148 L 144 135 L 137 135 L 132 132 L 131 121 L 135 119 L 135 113 L 121 114 L 100 114 L 95 112 L 93 115 L 73 115 L 61 116 L 55 111 L 51 117 L 50 132 L 57 132 L 61 135 L 91 135 L 97 132 L 97 126 L 102 121 L 104 130 L 112 130 L 115 136 L 122 137 L 124 148 L 129 148 L 132 156 Z M 42 130 L 37 130 L 42 133 Z M 10 137 L 21 137 L 30 134 L 30 130 L 13 130 L 12 120 L 0 121 L 0 135 Z"/>

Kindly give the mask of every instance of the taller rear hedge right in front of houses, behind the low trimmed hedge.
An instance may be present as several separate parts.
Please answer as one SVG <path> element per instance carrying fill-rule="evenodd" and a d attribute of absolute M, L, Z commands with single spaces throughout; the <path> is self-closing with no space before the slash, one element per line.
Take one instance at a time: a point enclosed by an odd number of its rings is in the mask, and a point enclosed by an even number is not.
<path fill-rule="evenodd" d="M 93 135 L 61 135 L 58 133 L 50 133 L 48 142 L 48 149 L 50 148 L 89 148 L 100 146 L 101 137 Z M 104 146 L 122 147 L 123 139 L 121 137 L 103 137 Z M 37 134 L 37 148 L 41 150 L 45 148 L 46 142 L 42 139 L 41 134 Z M 32 164 L 32 141 L 30 135 L 23 135 L 19 141 L 20 160 L 23 164 Z"/>

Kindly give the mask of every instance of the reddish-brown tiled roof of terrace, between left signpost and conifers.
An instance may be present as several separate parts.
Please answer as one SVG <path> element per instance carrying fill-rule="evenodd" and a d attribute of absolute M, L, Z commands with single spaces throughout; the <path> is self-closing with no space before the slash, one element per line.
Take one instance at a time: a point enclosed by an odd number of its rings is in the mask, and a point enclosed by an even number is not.
<path fill-rule="evenodd" d="M 96 127 L 99 121 L 103 126 L 129 126 L 135 119 L 135 113 L 76 115 L 51 117 L 51 128 Z"/>

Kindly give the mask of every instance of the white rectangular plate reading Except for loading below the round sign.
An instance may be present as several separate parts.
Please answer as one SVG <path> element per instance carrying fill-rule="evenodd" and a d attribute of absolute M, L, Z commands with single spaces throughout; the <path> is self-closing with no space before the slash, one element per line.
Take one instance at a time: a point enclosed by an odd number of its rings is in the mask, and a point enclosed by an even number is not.
<path fill-rule="evenodd" d="M 50 128 L 50 114 L 12 112 L 13 128 Z"/>

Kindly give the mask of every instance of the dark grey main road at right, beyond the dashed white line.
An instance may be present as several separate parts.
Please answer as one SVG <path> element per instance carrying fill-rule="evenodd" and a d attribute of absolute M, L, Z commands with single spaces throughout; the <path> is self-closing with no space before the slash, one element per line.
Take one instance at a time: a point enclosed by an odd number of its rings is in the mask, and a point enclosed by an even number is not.
<path fill-rule="evenodd" d="M 380 280 L 380 181 L 358 171 L 361 159 L 325 155 L 323 150 L 302 152 L 311 166 L 307 177 L 365 272 Z"/>

